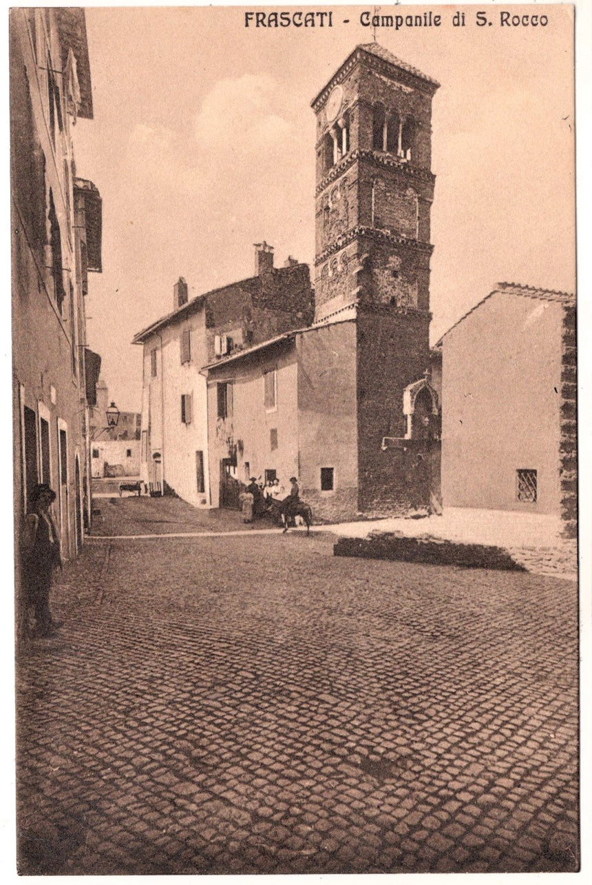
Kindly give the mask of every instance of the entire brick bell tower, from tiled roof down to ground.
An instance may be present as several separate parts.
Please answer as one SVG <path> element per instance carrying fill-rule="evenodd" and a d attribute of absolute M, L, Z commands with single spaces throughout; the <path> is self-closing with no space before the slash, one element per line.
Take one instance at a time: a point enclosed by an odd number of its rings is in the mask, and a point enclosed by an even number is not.
<path fill-rule="evenodd" d="M 364 511 L 411 505 L 414 444 L 407 437 L 414 422 L 406 402 L 410 385 L 429 368 L 431 104 L 438 85 L 368 43 L 353 50 L 312 103 L 315 321 L 345 311 L 356 317 Z"/>

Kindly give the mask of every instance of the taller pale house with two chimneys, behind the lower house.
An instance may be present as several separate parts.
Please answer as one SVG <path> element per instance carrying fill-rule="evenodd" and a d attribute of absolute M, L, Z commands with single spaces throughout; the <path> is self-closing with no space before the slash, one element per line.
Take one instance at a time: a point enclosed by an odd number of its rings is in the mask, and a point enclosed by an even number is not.
<path fill-rule="evenodd" d="M 211 412 L 201 367 L 313 317 L 306 265 L 288 259 L 285 267 L 274 267 L 273 249 L 263 242 L 255 245 L 255 271 L 254 277 L 191 301 L 175 301 L 171 314 L 134 338 L 144 348 L 140 474 L 153 493 L 173 491 L 196 506 L 218 505 L 210 458 L 219 453 L 209 450 L 208 429 L 216 424 L 216 411 Z"/>

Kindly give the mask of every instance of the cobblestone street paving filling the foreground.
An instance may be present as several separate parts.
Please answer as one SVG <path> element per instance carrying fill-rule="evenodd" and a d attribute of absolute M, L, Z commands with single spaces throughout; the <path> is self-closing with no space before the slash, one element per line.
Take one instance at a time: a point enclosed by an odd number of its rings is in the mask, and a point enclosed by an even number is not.
<path fill-rule="evenodd" d="M 333 541 L 87 542 L 20 651 L 21 873 L 577 869 L 576 584 Z"/>

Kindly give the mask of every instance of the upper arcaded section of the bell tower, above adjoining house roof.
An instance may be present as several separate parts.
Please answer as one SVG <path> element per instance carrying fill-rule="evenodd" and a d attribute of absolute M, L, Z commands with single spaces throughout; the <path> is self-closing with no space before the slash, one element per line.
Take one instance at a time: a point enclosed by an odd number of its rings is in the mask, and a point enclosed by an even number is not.
<path fill-rule="evenodd" d="M 358 46 L 316 113 L 316 319 L 382 304 L 429 311 L 438 84 L 377 43 Z"/>

